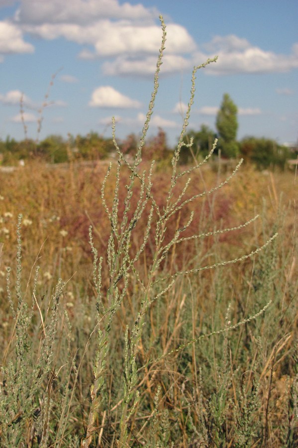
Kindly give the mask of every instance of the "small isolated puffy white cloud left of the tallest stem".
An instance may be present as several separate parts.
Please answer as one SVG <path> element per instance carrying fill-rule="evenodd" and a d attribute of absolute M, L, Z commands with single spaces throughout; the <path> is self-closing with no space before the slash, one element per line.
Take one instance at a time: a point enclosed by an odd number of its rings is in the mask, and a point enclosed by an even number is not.
<path fill-rule="evenodd" d="M 101 108 L 139 108 L 141 103 L 122 95 L 111 86 L 101 86 L 93 91 L 89 106 Z"/>

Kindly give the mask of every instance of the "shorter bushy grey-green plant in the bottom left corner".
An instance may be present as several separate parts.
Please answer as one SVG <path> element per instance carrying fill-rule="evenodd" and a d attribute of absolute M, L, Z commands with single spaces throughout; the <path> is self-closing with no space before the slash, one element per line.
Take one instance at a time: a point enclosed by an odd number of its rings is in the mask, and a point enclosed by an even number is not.
<path fill-rule="evenodd" d="M 53 406 L 51 399 L 52 382 L 55 371 L 54 364 L 56 333 L 58 323 L 59 298 L 63 290 L 63 282 L 60 279 L 50 298 L 43 316 L 36 300 L 36 286 L 39 268 L 36 268 L 33 280 L 31 308 L 25 300 L 26 291 L 21 287 L 21 221 L 18 217 L 17 224 L 17 256 L 16 256 L 16 281 L 15 295 L 17 307 L 14 307 L 10 288 L 10 268 L 7 269 L 7 298 L 11 315 L 14 319 L 7 347 L 3 354 L 3 366 L 1 367 L 1 400 L 0 400 L 0 428 L 1 440 L 5 447 L 18 447 L 26 441 L 27 446 L 37 433 L 40 446 L 46 447 L 49 436 L 49 419 Z M 28 288 L 28 284 L 27 284 Z M 37 306 L 41 320 L 41 336 L 38 349 L 32 347 L 33 309 Z M 15 358 L 10 358 L 7 365 L 6 357 L 14 346 Z"/>

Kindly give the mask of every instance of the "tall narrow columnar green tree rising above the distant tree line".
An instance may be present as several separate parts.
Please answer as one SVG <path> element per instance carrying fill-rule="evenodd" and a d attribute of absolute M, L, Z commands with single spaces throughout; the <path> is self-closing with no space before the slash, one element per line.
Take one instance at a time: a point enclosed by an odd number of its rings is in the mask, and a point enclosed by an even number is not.
<path fill-rule="evenodd" d="M 236 141 L 238 130 L 237 111 L 237 106 L 233 103 L 230 96 L 224 94 L 216 116 L 216 128 L 219 137 L 218 147 L 226 157 L 236 157 L 239 152 Z"/>

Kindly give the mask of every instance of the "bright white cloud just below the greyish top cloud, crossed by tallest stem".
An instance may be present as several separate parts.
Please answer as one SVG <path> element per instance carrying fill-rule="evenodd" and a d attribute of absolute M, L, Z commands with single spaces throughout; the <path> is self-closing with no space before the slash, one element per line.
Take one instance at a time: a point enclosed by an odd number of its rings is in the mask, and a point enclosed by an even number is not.
<path fill-rule="evenodd" d="M 158 53 L 161 43 L 161 28 L 156 24 L 139 25 L 133 21 L 101 19 L 86 24 L 49 23 L 23 24 L 25 32 L 43 39 L 64 37 L 80 45 L 92 45 L 95 52 L 83 49 L 81 58 L 110 57 L 119 55 L 141 55 Z M 196 44 L 188 31 L 181 25 L 167 26 L 167 54 L 190 53 Z"/>

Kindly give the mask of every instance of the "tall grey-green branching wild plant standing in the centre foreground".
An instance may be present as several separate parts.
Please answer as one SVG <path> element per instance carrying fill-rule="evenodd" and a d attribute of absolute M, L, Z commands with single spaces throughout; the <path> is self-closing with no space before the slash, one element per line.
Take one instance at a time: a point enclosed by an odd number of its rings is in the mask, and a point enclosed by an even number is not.
<path fill-rule="evenodd" d="M 166 196 L 165 206 L 161 209 L 152 194 L 152 173 L 154 169 L 154 161 L 151 163 L 149 170 L 141 171 L 141 161 L 142 161 L 142 149 L 144 147 L 144 141 L 150 124 L 150 118 L 153 113 L 154 102 L 158 91 L 158 80 L 159 73 L 162 64 L 163 53 L 165 50 L 166 42 L 166 26 L 162 17 L 160 17 L 162 25 L 162 44 L 159 52 L 159 57 L 157 60 L 157 67 L 154 76 L 154 88 L 152 92 L 151 101 L 149 103 L 148 112 L 146 115 L 146 120 L 140 137 L 139 145 L 134 157 L 134 161 L 129 163 L 121 152 L 119 146 L 115 139 L 115 120 L 113 119 L 112 124 L 112 134 L 115 149 L 118 155 L 116 177 L 115 177 L 115 188 L 114 196 L 112 200 L 112 206 L 109 208 L 107 205 L 105 197 L 105 187 L 108 178 L 111 173 L 111 164 L 108 168 L 107 174 L 102 183 L 101 189 L 101 200 L 105 212 L 109 218 L 111 232 L 108 239 L 107 246 L 107 265 L 108 265 L 108 289 L 106 292 L 106 297 L 102 294 L 102 279 L 101 279 L 101 268 L 104 262 L 103 257 L 98 256 L 98 252 L 93 244 L 92 230 L 90 230 L 90 242 L 92 251 L 94 253 L 94 282 L 97 290 L 97 314 L 98 314 L 98 349 L 96 355 L 96 363 L 94 365 L 94 381 L 91 387 L 91 407 L 88 420 L 88 428 L 86 431 L 86 436 L 82 440 L 82 446 L 88 447 L 92 444 L 93 435 L 96 430 L 95 421 L 100 412 L 103 412 L 102 401 L 103 401 L 103 390 L 104 390 L 104 371 L 106 369 L 107 355 L 110 349 L 110 332 L 114 321 L 114 316 L 121 307 L 122 303 L 126 299 L 126 294 L 128 290 L 129 278 L 133 275 L 136 278 L 138 287 L 140 288 L 140 302 L 138 303 L 138 309 L 135 310 L 135 317 L 133 318 L 133 323 L 131 327 L 128 325 L 125 329 L 124 334 L 124 355 L 123 355 L 123 396 L 121 398 L 121 412 L 120 412 L 120 423 L 119 423 L 119 437 L 117 440 L 117 446 L 127 446 L 128 443 L 128 432 L 129 432 L 129 422 L 136 409 L 140 404 L 140 394 L 138 391 L 138 381 L 141 372 L 144 371 L 148 365 L 156 363 L 157 360 L 147 359 L 144 365 L 139 363 L 140 350 L 142 351 L 143 341 L 143 329 L 146 325 L 147 313 L 150 307 L 158 301 L 161 300 L 174 286 L 175 281 L 178 277 L 186 276 L 188 274 L 199 273 L 204 270 L 211 270 L 217 267 L 223 267 L 228 264 L 241 262 L 248 258 L 252 258 L 255 254 L 259 253 L 261 250 L 266 248 L 277 236 L 275 233 L 271 236 L 261 247 L 256 248 L 249 254 L 242 255 L 240 257 L 219 261 L 211 265 L 205 266 L 195 266 L 187 270 L 177 271 L 175 273 L 169 274 L 162 272 L 162 263 L 166 260 L 169 255 L 170 249 L 178 244 L 182 244 L 185 241 L 195 240 L 199 238 L 207 238 L 209 236 L 214 236 L 217 234 L 231 232 L 236 229 L 241 229 L 251 223 L 253 223 L 258 216 L 247 221 L 246 223 L 240 224 L 233 228 L 215 229 L 205 233 L 195 234 L 192 236 L 185 237 L 183 232 L 189 228 L 190 224 L 194 218 L 194 212 L 190 214 L 189 217 L 184 217 L 183 223 L 179 225 L 175 233 L 172 235 L 167 234 L 167 224 L 171 218 L 177 219 L 179 213 L 183 215 L 183 211 L 186 205 L 194 202 L 199 198 L 208 196 L 224 185 L 226 185 L 237 173 L 242 160 L 239 162 L 235 170 L 230 176 L 228 176 L 223 182 L 217 186 L 211 188 L 210 190 L 203 191 L 201 193 L 195 194 L 191 197 L 187 196 L 188 188 L 191 183 L 191 173 L 197 171 L 205 164 L 211 157 L 217 141 L 214 142 L 213 147 L 209 154 L 204 158 L 202 162 L 187 168 L 185 170 L 179 171 L 178 161 L 180 157 L 180 152 L 183 146 L 191 146 L 192 142 L 189 144 L 184 142 L 184 137 L 186 129 L 188 126 L 191 108 L 194 102 L 195 96 L 195 80 L 196 74 L 199 69 L 206 67 L 208 64 L 215 62 L 216 57 L 213 59 L 208 59 L 205 63 L 197 66 L 193 70 L 192 75 L 192 86 L 191 95 L 188 104 L 188 109 L 184 118 L 184 123 L 182 126 L 182 131 L 180 133 L 179 142 L 177 148 L 174 152 L 172 158 L 172 177 L 171 184 L 169 186 L 168 194 Z M 126 188 L 126 197 L 124 199 L 124 210 L 119 213 L 119 185 L 121 169 L 125 166 L 129 170 L 129 180 Z M 184 187 L 178 194 L 176 199 L 174 197 L 174 190 L 177 181 L 181 178 L 187 178 Z M 137 192 L 138 199 L 136 202 L 136 207 L 134 210 L 131 209 L 132 197 L 135 193 L 135 184 L 139 183 L 140 188 Z M 136 226 L 139 224 L 141 217 L 147 213 L 147 224 L 145 225 L 143 231 L 143 239 L 139 241 L 138 248 L 133 252 L 131 250 L 131 242 L 133 239 L 133 232 Z M 153 218 L 155 218 L 155 226 L 153 227 Z M 151 265 L 148 270 L 148 275 L 145 277 L 142 275 L 142 271 L 137 268 L 137 262 L 140 260 L 140 256 L 143 254 L 146 245 L 149 240 L 154 243 L 153 255 L 151 260 Z M 165 352 L 160 356 L 158 361 L 161 359 L 172 355 L 173 353 L 186 348 L 190 344 L 194 344 L 201 337 L 211 336 L 218 333 L 226 333 L 229 330 L 235 329 L 236 327 L 243 325 L 252 319 L 257 318 L 261 313 L 268 308 L 270 302 L 266 304 L 258 313 L 254 316 L 244 319 L 235 325 L 230 325 L 222 330 L 214 331 L 209 335 L 203 335 L 196 337 L 193 340 L 182 344 L 169 352 Z M 125 306 L 125 305 L 124 305 Z"/>

